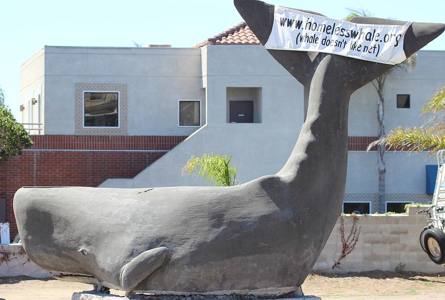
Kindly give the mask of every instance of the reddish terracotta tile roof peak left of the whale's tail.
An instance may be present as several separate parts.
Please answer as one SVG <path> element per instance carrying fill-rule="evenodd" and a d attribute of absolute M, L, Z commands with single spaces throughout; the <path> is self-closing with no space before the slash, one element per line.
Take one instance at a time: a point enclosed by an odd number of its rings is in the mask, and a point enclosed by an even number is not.
<path fill-rule="evenodd" d="M 238 25 L 235 25 L 226 31 L 212 37 L 207 40 L 200 42 L 199 44 L 193 47 L 203 47 L 206 45 L 259 45 L 260 40 L 254 35 L 254 33 L 250 30 L 249 26 L 247 26 L 246 22 L 241 22 Z"/>

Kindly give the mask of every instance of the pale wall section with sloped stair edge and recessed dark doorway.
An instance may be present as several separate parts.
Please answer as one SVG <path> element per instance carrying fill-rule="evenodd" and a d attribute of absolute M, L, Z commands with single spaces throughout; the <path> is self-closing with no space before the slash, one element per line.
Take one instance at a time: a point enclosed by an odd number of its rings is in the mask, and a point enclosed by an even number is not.
<path fill-rule="evenodd" d="M 207 124 L 133 179 L 108 179 L 100 187 L 207 185 L 202 179 L 182 175 L 181 169 L 191 155 L 209 152 L 232 155 L 242 183 L 282 168 L 303 124 L 302 85 L 263 47 L 207 46 L 202 52 L 207 58 L 203 61 Z M 261 123 L 227 123 L 227 90 L 234 87 L 261 92 Z"/>

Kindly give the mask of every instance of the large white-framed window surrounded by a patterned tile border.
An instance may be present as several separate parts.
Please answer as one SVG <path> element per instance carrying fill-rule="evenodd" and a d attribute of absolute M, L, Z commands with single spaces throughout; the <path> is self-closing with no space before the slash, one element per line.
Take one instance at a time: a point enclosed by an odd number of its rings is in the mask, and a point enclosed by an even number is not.
<path fill-rule="evenodd" d="M 119 127 L 119 93 L 84 93 L 85 127 Z"/>

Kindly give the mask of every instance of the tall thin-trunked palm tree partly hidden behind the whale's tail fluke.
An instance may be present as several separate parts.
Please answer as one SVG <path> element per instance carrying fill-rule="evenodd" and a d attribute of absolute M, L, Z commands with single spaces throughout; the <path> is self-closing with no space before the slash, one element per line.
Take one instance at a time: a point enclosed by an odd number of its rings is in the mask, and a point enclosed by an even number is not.
<path fill-rule="evenodd" d="M 345 21 L 349 21 L 356 16 L 362 17 L 372 17 L 372 15 L 364 9 L 351 9 L 350 14 L 345 18 Z M 388 77 L 394 75 L 404 75 L 414 69 L 416 65 L 417 53 L 414 53 L 407 59 L 405 59 L 400 64 L 395 65 L 386 73 L 378 76 L 376 79 L 372 80 L 372 85 L 374 86 L 378 100 L 377 100 L 377 122 L 379 124 L 378 135 L 377 137 L 381 140 L 385 136 L 385 95 L 384 88 L 385 82 Z M 385 173 L 386 173 L 386 164 L 385 164 L 385 146 L 377 143 L 374 144 L 377 146 L 378 158 L 377 165 L 379 169 L 379 206 L 380 212 L 385 212 L 385 200 L 386 200 L 386 185 L 385 185 Z"/>

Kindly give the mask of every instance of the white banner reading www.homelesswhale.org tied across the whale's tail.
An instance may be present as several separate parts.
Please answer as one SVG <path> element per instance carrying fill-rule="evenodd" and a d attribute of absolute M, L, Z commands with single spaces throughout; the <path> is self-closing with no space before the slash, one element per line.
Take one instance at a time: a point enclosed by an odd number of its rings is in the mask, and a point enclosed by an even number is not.
<path fill-rule="evenodd" d="M 330 19 L 275 5 L 267 49 L 332 53 L 395 65 L 406 59 L 403 26 L 368 25 Z"/>

